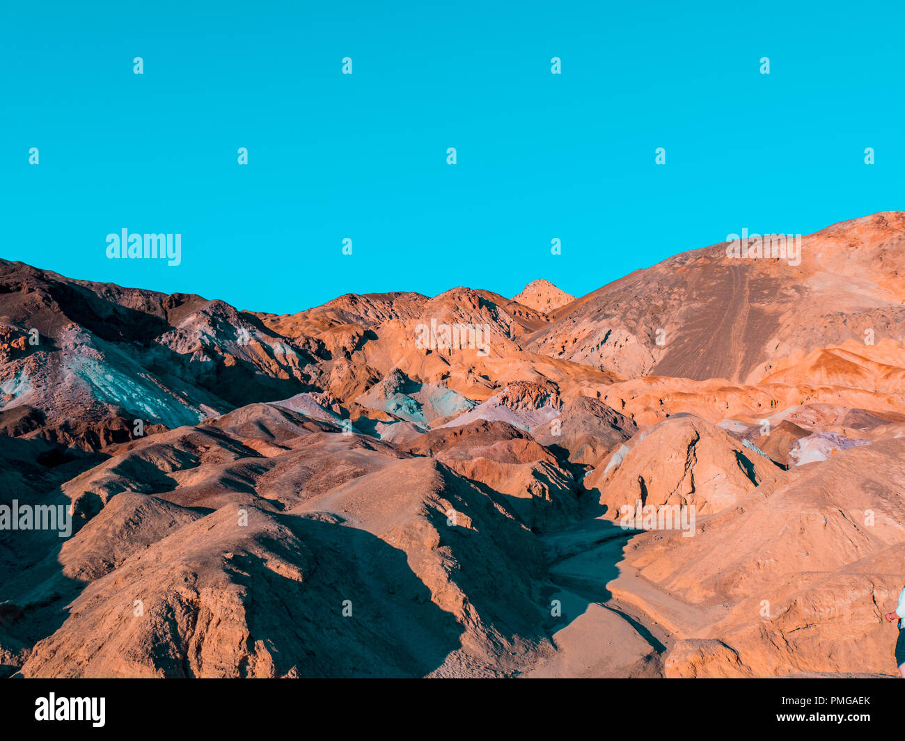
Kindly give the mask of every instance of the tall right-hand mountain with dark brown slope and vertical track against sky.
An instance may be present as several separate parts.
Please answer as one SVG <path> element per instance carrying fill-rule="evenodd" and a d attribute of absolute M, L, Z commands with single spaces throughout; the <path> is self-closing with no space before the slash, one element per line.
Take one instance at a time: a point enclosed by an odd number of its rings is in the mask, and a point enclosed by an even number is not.
<path fill-rule="evenodd" d="M 901 342 L 903 240 L 905 214 L 886 212 L 805 236 L 799 264 L 729 257 L 726 242 L 683 252 L 578 299 L 528 348 L 626 376 L 750 382 L 868 329 Z"/>

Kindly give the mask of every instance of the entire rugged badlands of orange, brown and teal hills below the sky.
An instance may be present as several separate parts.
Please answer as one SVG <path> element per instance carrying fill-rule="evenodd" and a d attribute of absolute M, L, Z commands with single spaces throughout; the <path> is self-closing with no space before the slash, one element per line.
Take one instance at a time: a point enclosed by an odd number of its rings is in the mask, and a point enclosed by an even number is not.
<path fill-rule="evenodd" d="M 0 676 L 895 676 L 903 340 L 900 212 L 288 316 L 0 261 L 0 504 L 72 518 Z"/>

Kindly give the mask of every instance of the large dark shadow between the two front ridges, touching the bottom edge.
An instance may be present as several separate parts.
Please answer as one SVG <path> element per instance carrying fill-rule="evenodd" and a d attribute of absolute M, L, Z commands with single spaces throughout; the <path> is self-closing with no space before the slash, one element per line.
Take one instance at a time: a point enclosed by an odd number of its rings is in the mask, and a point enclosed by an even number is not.
<path fill-rule="evenodd" d="M 233 559 L 233 578 L 247 588 L 248 641 L 273 646 L 278 676 L 295 667 L 302 677 L 423 677 L 460 647 L 462 626 L 431 601 L 405 551 L 336 518 L 277 517 L 315 559 L 307 578 L 252 556 Z"/>

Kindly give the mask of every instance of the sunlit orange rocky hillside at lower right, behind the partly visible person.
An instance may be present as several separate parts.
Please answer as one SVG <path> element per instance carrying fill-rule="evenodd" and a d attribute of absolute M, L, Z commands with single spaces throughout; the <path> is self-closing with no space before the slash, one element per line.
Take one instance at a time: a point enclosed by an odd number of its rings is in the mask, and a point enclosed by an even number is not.
<path fill-rule="evenodd" d="M 629 563 L 681 594 L 670 615 L 686 638 L 667 674 L 894 670 L 881 613 L 901 590 L 903 446 L 877 442 L 791 470 L 708 519 L 700 536 L 639 538 Z M 692 632 L 698 616 L 709 624 Z"/>

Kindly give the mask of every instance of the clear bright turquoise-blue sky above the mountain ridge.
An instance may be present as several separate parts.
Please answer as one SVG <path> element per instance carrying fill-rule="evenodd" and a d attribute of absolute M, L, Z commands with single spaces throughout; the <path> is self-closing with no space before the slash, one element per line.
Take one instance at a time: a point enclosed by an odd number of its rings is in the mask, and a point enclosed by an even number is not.
<path fill-rule="evenodd" d="M 905 208 L 903 7 L 10 0 L 0 257 L 282 313 L 582 295 L 742 228 Z M 109 260 L 123 228 L 182 234 L 181 264 Z"/>

